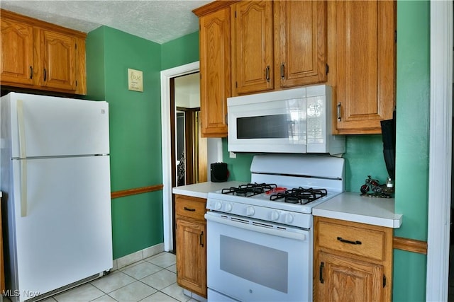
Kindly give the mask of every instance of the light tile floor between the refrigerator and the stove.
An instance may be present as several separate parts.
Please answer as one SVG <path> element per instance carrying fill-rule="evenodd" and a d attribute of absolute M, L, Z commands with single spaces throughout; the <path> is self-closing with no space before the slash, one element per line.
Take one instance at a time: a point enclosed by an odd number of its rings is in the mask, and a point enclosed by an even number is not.
<path fill-rule="evenodd" d="M 175 255 L 161 252 L 110 274 L 46 298 L 43 302 L 196 301 L 177 285 Z"/>

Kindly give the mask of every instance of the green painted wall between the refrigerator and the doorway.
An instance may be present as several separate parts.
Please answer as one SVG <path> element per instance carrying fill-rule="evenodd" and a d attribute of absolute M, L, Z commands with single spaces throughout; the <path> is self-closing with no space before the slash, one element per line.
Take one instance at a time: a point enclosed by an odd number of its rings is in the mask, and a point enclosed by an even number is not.
<path fill-rule="evenodd" d="M 107 100 L 111 191 L 162 183 L 160 45 L 113 28 L 87 36 L 87 98 Z M 143 93 L 128 90 L 143 71 Z M 114 259 L 163 242 L 162 192 L 112 199 Z"/>

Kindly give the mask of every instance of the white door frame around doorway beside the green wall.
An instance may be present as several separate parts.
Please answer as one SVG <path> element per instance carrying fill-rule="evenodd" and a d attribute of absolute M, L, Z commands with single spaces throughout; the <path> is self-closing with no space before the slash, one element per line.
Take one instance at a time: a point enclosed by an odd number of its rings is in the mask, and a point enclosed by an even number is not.
<path fill-rule="evenodd" d="M 170 79 L 177 76 L 194 74 L 200 69 L 200 62 L 161 71 L 161 150 L 162 150 L 162 223 L 164 228 L 164 250 L 169 252 L 173 246 L 172 225 L 172 156 L 170 154 Z M 173 138 L 175 139 L 175 137 Z"/>

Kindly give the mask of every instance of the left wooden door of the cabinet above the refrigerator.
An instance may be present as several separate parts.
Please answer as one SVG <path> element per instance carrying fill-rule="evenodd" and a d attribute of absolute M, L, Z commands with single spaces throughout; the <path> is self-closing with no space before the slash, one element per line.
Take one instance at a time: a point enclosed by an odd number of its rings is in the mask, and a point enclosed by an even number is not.
<path fill-rule="evenodd" d="M 1 18 L 1 84 L 33 85 L 33 28 Z"/>

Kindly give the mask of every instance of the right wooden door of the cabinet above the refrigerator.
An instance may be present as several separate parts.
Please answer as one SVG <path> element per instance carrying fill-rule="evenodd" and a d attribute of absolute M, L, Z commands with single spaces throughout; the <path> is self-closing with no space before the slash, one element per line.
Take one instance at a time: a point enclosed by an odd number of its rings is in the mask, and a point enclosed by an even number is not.
<path fill-rule="evenodd" d="M 40 30 L 40 85 L 76 90 L 76 38 L 50 30 Z M 37 64 L 39 65 L 39 63 Z"/>

